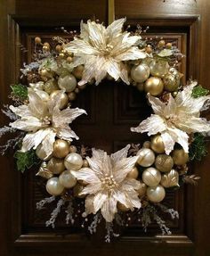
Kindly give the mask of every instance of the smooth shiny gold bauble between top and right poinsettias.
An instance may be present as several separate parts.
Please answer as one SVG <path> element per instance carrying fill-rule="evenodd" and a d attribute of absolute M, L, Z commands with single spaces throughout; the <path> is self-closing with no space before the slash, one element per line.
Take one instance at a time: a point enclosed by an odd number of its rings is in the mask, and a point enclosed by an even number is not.
<path fill-rule="evenodd" d="M 150 95 L 157 96 L 163 92 L 164 84 L 161 78 L 151 77 L 146 80 L 144 90 Z"/>

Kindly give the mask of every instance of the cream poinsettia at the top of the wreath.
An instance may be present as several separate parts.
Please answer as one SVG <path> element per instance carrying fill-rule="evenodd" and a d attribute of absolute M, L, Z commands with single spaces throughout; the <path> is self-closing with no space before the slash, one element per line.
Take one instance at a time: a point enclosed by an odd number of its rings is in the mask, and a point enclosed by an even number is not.
<path fill-rule="evenodd" d="M 85 70 L 79 85 L 95 78 L 98 85 L 109 74 L 117 80 L 121 78 L 129 84 L 125 61 L 137 60 L 146 57 L 136 45 L 140 36 L 130 36 L 123 32 L 125 19 L 111 23 L 107 29 L 94 21 L 81 21 L 81 34 L 65 46 L 66 50 L 77 58 L 77 65 L 84 64 Z"/>

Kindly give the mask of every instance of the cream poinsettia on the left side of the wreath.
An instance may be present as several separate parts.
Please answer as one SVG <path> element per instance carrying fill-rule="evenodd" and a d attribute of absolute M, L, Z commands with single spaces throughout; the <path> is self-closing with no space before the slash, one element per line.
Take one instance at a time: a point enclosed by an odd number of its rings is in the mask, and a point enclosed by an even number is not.
<path fill-rule="evenodd" d="M 28 88 L 29 103 L 18 107 L 10 106 L 10 109 L 20 117 L 10 123 L 10 126 L 28 132 L 23 138 L 21 152 L 36 149 L 42 143 L 44 152 L 49 156 L 53 150 L 55 136 L 67 141 L 72 141 L 72 138 L 78 139 L 76 133 L 69 128 L 69 123 L 86 111 L 78 108 L 66 108 L 61 111 L 61 94 L 62 91 L 46 102 L 36 91 Z"/>

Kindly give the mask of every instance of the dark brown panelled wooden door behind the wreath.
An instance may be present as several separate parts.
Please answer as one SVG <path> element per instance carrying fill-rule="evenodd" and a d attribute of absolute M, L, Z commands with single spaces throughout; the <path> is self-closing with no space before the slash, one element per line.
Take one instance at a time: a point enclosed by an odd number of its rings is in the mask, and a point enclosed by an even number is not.
<path fill-rule="evenodd" d="M 116 18 L 126 16 L 131 26 L 149 26 L 149 37 L 158 35 L 173 41 L 186 55 L 181 67 L 185 78 L 197 78 L 210 88 L 208 0 L 116 0 L 115 10 Z M 81 19 L 96 17 L 108 23 L 106 0 L 2 0 L 0 12 L 1 103 L 8 103 L 9 86 L 19 78 L 22 62 L 31 60 L 34 37 L 48 39 L 61 34 L 61 26 L 79 29 Z M 20 52 L 20 44 L 28 49 L 27 54 Z M 81 143 L 111 153 L 128 142 L 145 139 L 129 131 L 149 116 L 144 96 L 133 87 L 104 81 L 99 87 L 88 87 L 76 104 L 88 111 L 75 125 Z M 1 115 L 1 125 L 7 121 Z M 159 235 L 154 225 L 145 234 L 141 225 L 134 223 L 111 244 L 101 241 L 101 232 L 90 237 L 80 227 L 66 227 L 62 219 L 54 230 L 44 227 L 50 211 L 36 211 L 36 202 L 45 195 L 35 178 L 36 169 L 21 175 L 12 153 L 1 162 L 0 255 L 210 255 L 209 156 L 191 167 L 202 178 L 198 186 L 186 186 L 166 198 L 166 204 L 180 212 L 180 219 L 169 223 L 172 235 Z"/>

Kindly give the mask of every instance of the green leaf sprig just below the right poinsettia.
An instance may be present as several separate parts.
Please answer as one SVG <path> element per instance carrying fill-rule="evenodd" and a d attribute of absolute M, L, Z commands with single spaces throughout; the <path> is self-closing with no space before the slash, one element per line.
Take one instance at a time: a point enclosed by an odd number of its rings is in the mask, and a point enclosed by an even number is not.
<path fill-rule="evenodd" d="M 190 160 L 201 161 L 207 154 L 205 136 L 200 133 L 194 135 L 193 141 L 190 144 Z"/>

